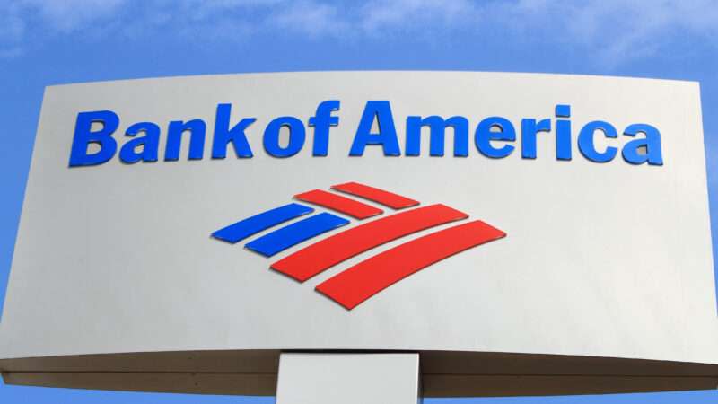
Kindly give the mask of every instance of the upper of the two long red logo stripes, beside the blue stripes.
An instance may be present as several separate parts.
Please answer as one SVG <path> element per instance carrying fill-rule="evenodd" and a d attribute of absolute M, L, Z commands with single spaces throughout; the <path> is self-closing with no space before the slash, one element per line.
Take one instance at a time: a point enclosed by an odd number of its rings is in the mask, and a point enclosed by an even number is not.
<path fill-rule="evenodd" d="M 468 215 L 449 206 L 431 205 L 360 224 L 315 242 L 272 264 L 272 268 L 304 282 L 356 254 L 439 224 L 466 219 Z"/>

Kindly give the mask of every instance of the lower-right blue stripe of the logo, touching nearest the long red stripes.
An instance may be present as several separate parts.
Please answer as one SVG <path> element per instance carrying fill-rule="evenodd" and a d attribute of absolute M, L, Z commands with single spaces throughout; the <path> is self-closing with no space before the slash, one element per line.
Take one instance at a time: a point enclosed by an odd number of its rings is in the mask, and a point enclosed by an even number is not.
<path fill-rule="evenodd" d="M 248 242 L 245 247 L 257 251 L 265 257 L 271 257 L 277 252 L 284 251 L 294 244 L 311 239 L 321 233 L 336 229 L 349 221 L 328 213 L 313 215 L 299 222 L 288 224 L 281 229 Z"/>

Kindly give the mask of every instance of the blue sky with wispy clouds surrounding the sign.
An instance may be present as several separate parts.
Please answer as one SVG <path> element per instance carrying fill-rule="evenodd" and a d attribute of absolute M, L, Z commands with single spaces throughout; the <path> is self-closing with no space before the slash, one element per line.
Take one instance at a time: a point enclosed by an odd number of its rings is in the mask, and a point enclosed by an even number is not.
<path fill-rule="evenodd" d="M 718 7 L 709 0 L 0 0 L 0 298 L 49 84 L 295 70 L 477 70 L 701 83 L 718 230 Z M 715 243 L 714 243 L 715 251 Z M 1 299 L 0 299 L 1 300 Z M 708 403 L 716 391 L 434 403 Z M 0 402 L 273 399 L 0 385 Z"/>

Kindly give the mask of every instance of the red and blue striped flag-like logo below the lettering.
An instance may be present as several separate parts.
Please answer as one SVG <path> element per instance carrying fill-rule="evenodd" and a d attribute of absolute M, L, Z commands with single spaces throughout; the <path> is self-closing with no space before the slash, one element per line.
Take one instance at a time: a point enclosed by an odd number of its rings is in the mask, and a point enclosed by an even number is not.
<path fill-rule="evenodd" d="M 381 244 L 435 226 L 468 219 L 467 214 L 449 206 L 419 206 L 419 202 L 414 199 L 357 182 L 334 185 L 330 191 L 314 189 L 297 194 L 294 198 L 360 221 L 359 224 L 340 233 L 325 236 L 269 266 L 299 282 Z M 384 211 L 379 207 L 368 205 L 357 198 L 398 212 L 383 215 Z M 230 224 L 212 233 L 212 236 L 234 244 L 253 234 L 313 212 L 314 208 L 310 206 L 290 203 Z M 344 217 L 320 212 L 264 234 L 247 242 L 244 247 L 270 258 L 300 242 L 350 223 Z M 405 277 L 461 251 L 501 239 L 505 235 L 506 233 L 480 220 L 454 225 L 374 254 L 328 278 L 318 285 L 316 290 L 347 310 L 352 310 Z"/>

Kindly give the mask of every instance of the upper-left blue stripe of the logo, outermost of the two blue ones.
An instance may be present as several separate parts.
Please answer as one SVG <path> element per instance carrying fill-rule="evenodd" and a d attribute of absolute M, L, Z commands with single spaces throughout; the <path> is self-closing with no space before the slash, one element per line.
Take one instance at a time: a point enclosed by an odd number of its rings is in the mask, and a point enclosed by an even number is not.
<path fill-rule="evenodd" d="M 294 217 L 306 215 L 313 211 L 314 209 L 311 207 L 299 204 L 279 206 L 217 230 L 215 233 L 212 233 L 212 237 L 225 242 L 232 242 L 233 244 L 242 239 L 246 239 L 254 233 L 259 233 L 269 227 L 276 226 Z"/>

